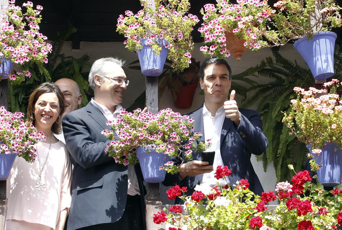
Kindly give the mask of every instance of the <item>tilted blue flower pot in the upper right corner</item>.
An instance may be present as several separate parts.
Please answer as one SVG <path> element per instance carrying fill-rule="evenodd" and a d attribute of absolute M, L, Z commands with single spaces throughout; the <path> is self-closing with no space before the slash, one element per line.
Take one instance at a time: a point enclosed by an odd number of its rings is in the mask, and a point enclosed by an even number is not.
<path fill-rule="evenodd" d="M 313 40 L 300 38 L 293 44 L 309 66 L 316 80 L 324 80 L 334 75 L 334 49 L 337 35 L 333 32 L 318 32 Z"/>

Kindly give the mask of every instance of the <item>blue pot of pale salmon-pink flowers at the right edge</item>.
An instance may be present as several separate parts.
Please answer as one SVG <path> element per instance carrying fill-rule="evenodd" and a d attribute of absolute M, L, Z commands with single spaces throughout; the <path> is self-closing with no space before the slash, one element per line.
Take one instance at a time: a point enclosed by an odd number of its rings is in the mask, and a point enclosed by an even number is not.
<path fill-rule="evenodd" d="M 336 94 L 339 85 L 337 79 L 325 83 L 324 86 L 330 88 L 328 94 L 324 94 L 327 89 L 310 87 L 305 91 L 295 87 L 297 99 L 291 100 L 292 111 L 284 113 L 282 120 L 291 133 L 307 145 L 311 151 L 309 155 L 316 155 L 316 162 L 321 167 L 317 171 L 318 181 L 326 186 L 340 184 L 342 179 L 342 101 Z M 294 128 L 294 123 L 298 129 Z M 314 171 L 319 169 L 313 161 L 311 167 Z"/>

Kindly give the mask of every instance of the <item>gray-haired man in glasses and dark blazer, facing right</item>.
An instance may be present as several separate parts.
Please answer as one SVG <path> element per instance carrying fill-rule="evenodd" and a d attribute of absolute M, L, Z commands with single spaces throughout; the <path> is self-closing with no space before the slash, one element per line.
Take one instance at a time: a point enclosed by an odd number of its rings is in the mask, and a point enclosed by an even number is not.
<path fill-rule="evenodd" d="M 111 140 L 101 134 L 122 108 L 129 84 L 123 63 L 112 57 L 95 61 L 89 73 L 94 98 L 63 118 L 74 166 L 67 230 L 146 229 L 141 169 L 115 163 L 104 151 Z"/>

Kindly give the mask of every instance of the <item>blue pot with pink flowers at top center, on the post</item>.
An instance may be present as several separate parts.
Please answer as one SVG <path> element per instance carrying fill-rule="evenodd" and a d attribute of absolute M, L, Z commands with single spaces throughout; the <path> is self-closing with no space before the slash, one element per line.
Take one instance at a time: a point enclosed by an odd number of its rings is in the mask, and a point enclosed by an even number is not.
<path fill-rule="evenodd" d="M 190 52 L 194 48 L 191 31 L 199 22 L 196 15 L 187 14 L 189 1 L 140 2 L 143 10 L 137 14 L 126 11 L 126 17 L 120 15 L 117 31 L 126 37 L 126 48 L 137 52 L 142 73 L 147 76 L 160 75 L 166 58 L 172 61 L 172 68 L 177 71 L 187 68 L 191 62 Z"/>

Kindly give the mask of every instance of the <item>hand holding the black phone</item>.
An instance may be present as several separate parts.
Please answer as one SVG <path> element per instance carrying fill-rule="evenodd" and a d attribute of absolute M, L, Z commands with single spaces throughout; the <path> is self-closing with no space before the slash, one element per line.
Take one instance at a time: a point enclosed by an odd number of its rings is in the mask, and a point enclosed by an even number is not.
<path fill-rule="evenodd" d="M 194 177 L 206 172 L 213 171 L 213 166 L 206 161 L 189 161 L 179 168 L 179 176 L 184 179 L 186 176 Z"/>

